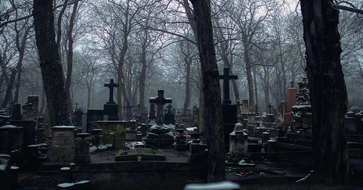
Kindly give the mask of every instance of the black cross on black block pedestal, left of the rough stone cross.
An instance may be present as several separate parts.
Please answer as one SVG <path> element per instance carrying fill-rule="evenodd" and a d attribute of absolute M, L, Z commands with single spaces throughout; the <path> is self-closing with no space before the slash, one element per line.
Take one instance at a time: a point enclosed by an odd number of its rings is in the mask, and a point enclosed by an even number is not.
<path fill-rule="evenodd" d="M 106 104 L 103 104 L 103 114 L 108 116 L 108 121 L 118 121 L 118 105 L 113 100 L 113 88 L 117 88 L 119 85 L 114 83 L 113 79 L 110 79 L 110 84 L 105 84 L 105 87 L 110 89 L 110 99 Z M 101 120 L 102 121 L 102 120 Z"/>

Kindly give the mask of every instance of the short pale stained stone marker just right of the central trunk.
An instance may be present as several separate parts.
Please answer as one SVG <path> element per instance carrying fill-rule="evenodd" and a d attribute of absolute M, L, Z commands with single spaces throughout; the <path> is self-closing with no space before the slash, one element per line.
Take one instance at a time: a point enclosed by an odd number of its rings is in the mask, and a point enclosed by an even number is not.
<path fill-rule="evenodd" d="M 229 133 L 229 153 L 247 153 L 248 135 L 243 131 Z"/>

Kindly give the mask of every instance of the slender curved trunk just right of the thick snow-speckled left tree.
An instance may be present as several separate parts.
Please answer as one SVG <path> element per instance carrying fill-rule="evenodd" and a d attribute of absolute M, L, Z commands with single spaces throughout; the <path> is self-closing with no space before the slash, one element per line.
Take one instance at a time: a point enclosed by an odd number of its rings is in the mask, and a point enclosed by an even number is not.
<path fill-rule="evenodd" d="M 73 104 L 72 97 L 70 94 L 70 83 L 72 81 L 72 68 L 73 68 L 73 26 L 74 26 L 74 18 L 76 17 L 78 7 L 78 1 L 73 5 L 72 15 L 69 20 L 69 29 L 68 29 L 68 60 L 67 60 L 67 78 L 66 78 L 66 94 L 68 101 L 68 111 L 69 113 L 73 113 Z"/>

